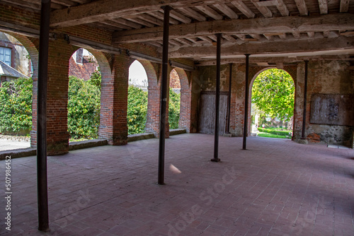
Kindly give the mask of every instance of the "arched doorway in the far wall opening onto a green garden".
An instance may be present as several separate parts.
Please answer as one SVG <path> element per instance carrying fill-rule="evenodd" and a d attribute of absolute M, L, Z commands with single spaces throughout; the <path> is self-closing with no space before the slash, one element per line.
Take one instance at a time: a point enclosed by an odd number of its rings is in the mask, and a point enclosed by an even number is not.
<path fill-rule="evenodd" d="M 282 69 L 263 69 L 250 86 L 251 118 L 249 131 L 254 136 L 292 138 L 295 83 Z"/>

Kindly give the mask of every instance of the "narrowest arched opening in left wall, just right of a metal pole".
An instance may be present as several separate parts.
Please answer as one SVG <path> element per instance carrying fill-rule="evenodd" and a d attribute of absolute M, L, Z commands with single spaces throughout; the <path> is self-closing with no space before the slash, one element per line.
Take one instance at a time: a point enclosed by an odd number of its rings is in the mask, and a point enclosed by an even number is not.
<path fill-rule="evenodd" d="M 169 126 L 170 129 L 178 129 L 181 113 L 181 81 L 176 69 L 170 73 L 169 88 Z"/>

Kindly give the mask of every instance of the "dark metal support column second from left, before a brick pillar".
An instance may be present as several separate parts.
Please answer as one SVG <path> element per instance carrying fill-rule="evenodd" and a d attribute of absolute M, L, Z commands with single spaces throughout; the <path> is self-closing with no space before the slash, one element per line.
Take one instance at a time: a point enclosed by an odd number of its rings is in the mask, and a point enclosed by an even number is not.
<path fill-rule="evenodd" d="M 166 102 L 167 102 L 167 70 L 169 66 L 169 18 L 171 6 L 163 6 L 164 9 L 164 39 L 162 45 L 162 77 L 161 77 L 161 101 L 160 101 L 160 134 L 159 134 L 159 177 L 157 184 L 164 184 L 165 172 L 165 126 L 166 126 Z"/>

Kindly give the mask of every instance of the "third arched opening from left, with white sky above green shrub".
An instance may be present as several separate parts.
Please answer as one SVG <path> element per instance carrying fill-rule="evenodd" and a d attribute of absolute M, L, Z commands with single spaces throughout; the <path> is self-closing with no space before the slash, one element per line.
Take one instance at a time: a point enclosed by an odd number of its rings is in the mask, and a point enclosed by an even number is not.
<path fill-rule="evenodd" d="M 128 134 L 142 134 L 147 124 L 148 102 L 147 71 L 135 60 L 129 67 L 129 87 L 127 101 Z"/>

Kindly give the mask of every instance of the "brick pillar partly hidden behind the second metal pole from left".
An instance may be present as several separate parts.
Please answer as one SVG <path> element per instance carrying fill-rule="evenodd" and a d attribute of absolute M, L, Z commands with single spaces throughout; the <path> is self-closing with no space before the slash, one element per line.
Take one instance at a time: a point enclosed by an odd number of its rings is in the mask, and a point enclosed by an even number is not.
<path fill-rule="evenodd" d="M 161 64 L 159 65 L 158 73 L 157 73 L 157 78 L 158 81 L 155 81 L 151 78 L 149 78 L 149 85 L 147 87 L 147 95 L 148 95 L 148 100 L 147 100 L 147 124 L 145 127 L 145 130 L 147 132 L 152 132 L 154 133 L 155 137 L 159 137 L 159 131 L 160 131 L 160 96 L 161 96 Z M 172 71 L 172 67 L 169 66 L 167 74 L 170 75 Z M 167 84 L 169 85 L 169 76 L 167 76 Z M 165 137 L 169 138 L 169 88 L 167 91 L 167 104 L 166 104 L 166 134 Z"/>

